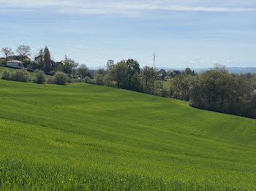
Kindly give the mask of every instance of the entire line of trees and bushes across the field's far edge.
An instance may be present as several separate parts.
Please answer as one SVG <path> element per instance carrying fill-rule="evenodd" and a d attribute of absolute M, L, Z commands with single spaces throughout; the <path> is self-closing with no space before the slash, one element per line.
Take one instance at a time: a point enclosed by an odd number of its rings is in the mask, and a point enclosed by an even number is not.
<path fill-rule="evenodd" d="M 7 57 L 6 61 L 13 53 L 10 48 L 3 48 L 2 52 Z M 106 85 L 178 98 L 189 101 L 190 106 L 198 109 L 256 118 L 255 74 L 229 74 L 225 66 L 221 65 L 200 74 L 189 68 L 184 71 L 164 71 L 164 74 L 160 74 L 157 69 L 150 66 L 141 68 L 134 59 L 117 63 L 109 60 L 104 69 L 98 69 L 92 74 L 86 65 L 79 65 L 67 56 L 64 61 L 52 61 L 48 47 L 41 49 L 34 61 L 28 58 L 31 55 L 29 46 L 20 45 L 17 52 L 28 69 L 36 70 L 34 82 L 59 85 L 66 82 L 87 82 Z M 7 71 L 4 74 L 5 79 L 12 79 L 12 74 L 8 74 Z M 47 79 L 45 74 L 54 77 Z M 12 80 L 15 79 L 17 77 L 13 74 Z"/>

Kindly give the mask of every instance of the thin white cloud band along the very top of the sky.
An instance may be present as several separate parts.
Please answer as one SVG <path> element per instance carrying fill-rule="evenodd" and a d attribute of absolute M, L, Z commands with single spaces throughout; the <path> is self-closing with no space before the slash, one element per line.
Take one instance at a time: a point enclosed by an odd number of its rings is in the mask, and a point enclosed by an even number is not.
<path fill-rule="evenodd" d="M 246 4 L 247 2 L 247 4 Z M 219 3 L 221 4 L 221 3 Z M 238 3 L 237 3 L 238 4 Z M 252 1 L 244 1 L 244 5 L 252 4 Z M 167 11 L 197 11 L 197 12 L 252 12 L 256 7 L 241 7 L 241 4 L 226 2 L 225 7 L 207 4 L 202 0 L 194 1 L 49 1 L 49 0 L 0 0 L 0 7 L 54 7 L 61 12 L 80 12 L 83 14 L 122 14 L 139 15 L 146 10 L 167 10 Z M 67 7 L 69 9 L 67 10 Z"/>

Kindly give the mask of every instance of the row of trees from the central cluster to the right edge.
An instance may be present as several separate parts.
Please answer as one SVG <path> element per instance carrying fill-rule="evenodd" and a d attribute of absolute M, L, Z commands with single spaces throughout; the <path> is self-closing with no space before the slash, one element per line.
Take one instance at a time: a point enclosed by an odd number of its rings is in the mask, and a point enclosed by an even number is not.
<path fill-rule="evenodd" d="M 214 112 L 256 118 L 256 74 L 229 74 L 225 66 L 195 74 L 191 69 L 162 80 L 152 67 L 140 69 L 129 59 L 99 69 L 97 85 L 135 90 L 189 101 L 191 106 Z"/>

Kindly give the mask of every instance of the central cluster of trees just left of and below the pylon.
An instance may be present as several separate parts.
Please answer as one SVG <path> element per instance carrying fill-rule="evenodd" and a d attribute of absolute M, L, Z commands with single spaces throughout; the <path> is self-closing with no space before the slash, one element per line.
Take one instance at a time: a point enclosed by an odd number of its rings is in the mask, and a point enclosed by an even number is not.
<path fill-rule="evenodd" d="M 149 66 L 140 69 L 138 61 L 128 59 L 116 64 L 108 61 L 107 70 L 99 69 L 94 81 L 97 85 L 154 94 L 154 85 L 159 79 L 161 78 L 156 69 Z"/>

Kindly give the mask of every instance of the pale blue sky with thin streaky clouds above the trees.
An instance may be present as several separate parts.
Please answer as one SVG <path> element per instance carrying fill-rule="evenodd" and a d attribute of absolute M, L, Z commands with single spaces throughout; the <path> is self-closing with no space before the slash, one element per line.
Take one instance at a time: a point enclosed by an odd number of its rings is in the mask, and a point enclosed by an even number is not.
<path fill-rule="evenodd" d="M 256 66 L 255 0 L 0 0 L 0 44 L 48 45 L 90 68 L 135 58 L 141 66 Z"/>

